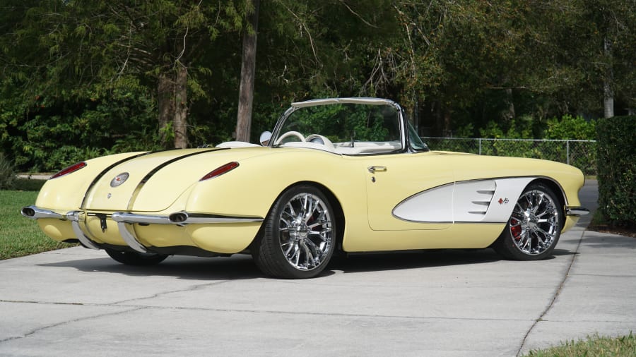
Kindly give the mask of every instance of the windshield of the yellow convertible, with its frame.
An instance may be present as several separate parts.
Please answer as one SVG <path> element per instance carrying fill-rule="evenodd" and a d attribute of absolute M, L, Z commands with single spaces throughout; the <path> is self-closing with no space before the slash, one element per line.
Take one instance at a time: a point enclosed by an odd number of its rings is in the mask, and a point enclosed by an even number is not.
<path fill-rule="evenodd" d="M 269 135 L 272 147 L 305 147 L 341 155 L 428 151 L 399 104 L 388 99 L 293 103 Z"/>

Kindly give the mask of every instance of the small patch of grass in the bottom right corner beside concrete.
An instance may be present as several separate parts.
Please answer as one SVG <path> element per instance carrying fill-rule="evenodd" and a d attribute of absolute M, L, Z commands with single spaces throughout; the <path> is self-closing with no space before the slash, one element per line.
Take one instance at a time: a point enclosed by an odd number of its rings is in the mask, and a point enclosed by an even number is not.
<path fill-rule="evenodd" d="M 530 351 L 532 357 L 578 357 L 578 356 L 636 356 L 636 336 L 589 337 L 584 341 L 570 341 L 563 346 Z"/>

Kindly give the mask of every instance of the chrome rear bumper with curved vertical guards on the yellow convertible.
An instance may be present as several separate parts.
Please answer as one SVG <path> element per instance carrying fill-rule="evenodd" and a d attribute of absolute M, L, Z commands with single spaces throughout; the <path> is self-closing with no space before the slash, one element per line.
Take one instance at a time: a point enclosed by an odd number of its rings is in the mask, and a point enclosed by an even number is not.
<path fill-rule="evenodd" d="M 30 219 L 52 218 L 70 221 L 71 226 L 73 227 L 73 234 L 75 234 L 76 238 L 78 238 L 83 246 L 91 249 L 100 249 L 98 243 L 95 243 L 86 236 L 79 224 L 79 222 L 82 222 L 87 214 L 90 215 L 93 213 L 84 211 L 69 211 L 65 214 L 61 214 L 36 206 L 23 207 L 21 213 L 24 217 Z M 102 217 L 108 216 L 110 216 L 114 222 L 117 222 L 119 234 L 122 236 L 126 244 L 133 250 L 140 253 L 147 253 L 148 249 L 139 242 L 134 231 L 129 229 L 131 224 L 175 224 L 177 226 L 184 226 L 186 224 L 245 223 L 264 221 L 263 217 L 225 216 L 219 214 L 189 213 L 184 211 L 175 212 L 167 216 L 113 212 L 112 214 L 105 214 Z"/>

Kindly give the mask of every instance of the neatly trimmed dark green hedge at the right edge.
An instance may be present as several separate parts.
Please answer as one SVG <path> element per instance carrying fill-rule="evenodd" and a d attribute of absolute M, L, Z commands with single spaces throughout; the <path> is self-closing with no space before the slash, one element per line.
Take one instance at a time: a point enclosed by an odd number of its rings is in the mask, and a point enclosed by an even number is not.
<path fill-rule="evenodd" d="M 601 119 L 596 128 L 599 210 L 611 224 L 636 227 L 636 116 Z"/>

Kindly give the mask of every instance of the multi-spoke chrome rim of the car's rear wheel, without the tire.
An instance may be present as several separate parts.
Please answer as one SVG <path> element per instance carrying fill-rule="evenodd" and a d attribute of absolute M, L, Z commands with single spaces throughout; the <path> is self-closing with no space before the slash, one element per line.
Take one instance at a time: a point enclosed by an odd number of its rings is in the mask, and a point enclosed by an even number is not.
<path fill-rule="evenodd" d="M 317 268 L 331 250 L 331 213 L 311 193 L 300 193 L 287 202 L 278 229 L 281 250 L 298 270 Z"/>

